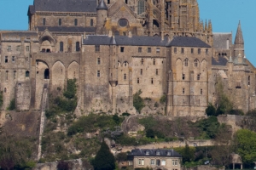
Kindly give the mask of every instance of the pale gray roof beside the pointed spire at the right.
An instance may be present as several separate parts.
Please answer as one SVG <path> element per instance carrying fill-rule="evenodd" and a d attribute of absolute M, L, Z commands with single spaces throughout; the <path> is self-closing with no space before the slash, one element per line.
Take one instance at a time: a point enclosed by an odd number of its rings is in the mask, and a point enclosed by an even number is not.
<path fill-rule="evenodd" d="M 232 45 L 232 33 L 213 33 L 213 47 L 218 49 L 227 48 L 227 40 Z"/>

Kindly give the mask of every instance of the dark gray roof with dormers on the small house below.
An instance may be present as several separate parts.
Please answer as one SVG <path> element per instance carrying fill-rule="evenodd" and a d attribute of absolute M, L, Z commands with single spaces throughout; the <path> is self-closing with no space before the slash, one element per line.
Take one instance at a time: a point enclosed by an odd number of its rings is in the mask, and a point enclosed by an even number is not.
<path fill-rule="evenodd" d="M 157 155 L 157 152 L 159 152 L 159 155 Z M 170 153 L 170 155 L 168 155 Z M 153 149 L 153 150 L 147 150 L 147 149 L 135 149 L 131 150 L 131 153 L 129 156 L 167 156 L 167 157 L 182 157 L 177 151 L 175 150 L 160 150 L 160 149 Z"/>

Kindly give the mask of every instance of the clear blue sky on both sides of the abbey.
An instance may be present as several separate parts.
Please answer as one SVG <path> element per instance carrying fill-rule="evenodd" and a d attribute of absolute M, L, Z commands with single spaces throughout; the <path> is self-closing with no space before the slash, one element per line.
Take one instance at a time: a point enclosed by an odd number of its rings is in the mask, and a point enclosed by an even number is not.
<path fill-rule="evenodd" d="M 256 0 L 197 0 L 201 20 L 212 20 L 213 32 L 233 32 L 241 20 L 245 54 L 256 66 Z M 33 0 L 0 0 L 0 30 L 27 30 L 27 9 Z"/>

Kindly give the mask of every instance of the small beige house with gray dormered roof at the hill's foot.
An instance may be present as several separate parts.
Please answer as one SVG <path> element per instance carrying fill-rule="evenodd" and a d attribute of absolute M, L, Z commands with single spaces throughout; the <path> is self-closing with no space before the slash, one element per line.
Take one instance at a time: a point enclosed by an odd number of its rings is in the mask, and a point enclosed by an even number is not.
<path fill-rule="evenodd" d="M 153 168 L 154 170 L 180 170 L 182 156 L 175 150 L 135 149 L 127 156 L 129 166 L 134 169 Z"/>

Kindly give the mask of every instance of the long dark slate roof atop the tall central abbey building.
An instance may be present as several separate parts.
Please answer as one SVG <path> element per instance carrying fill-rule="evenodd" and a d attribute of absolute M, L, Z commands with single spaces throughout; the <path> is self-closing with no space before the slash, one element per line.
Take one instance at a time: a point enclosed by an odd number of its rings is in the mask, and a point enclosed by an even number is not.
<path fill-rule="evenodd" d="M 201 47 L 210 48 L 207 43 L 202 42 L 196 37 L 174 37 L 171 42 L 168 42 L 168 38 L 165 37 L 164 40 L 161 37 L 147 37 L 147 36 L 87 36 L 83 44 L 85 45 L 111 45 L 115 42 L 117 45 L 131 45 L 131 46 L 158 46 L 158 47 Z"/>

